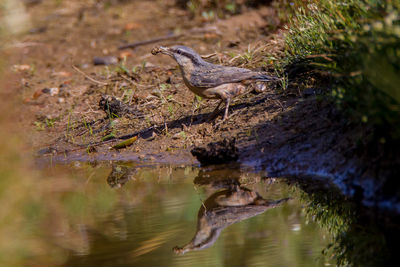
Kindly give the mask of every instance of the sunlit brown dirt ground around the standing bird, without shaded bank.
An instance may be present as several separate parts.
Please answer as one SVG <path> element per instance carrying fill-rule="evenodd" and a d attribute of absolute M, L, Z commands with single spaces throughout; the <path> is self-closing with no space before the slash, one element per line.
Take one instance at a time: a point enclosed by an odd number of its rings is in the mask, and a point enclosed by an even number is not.
<path fill-rule="evenodd" d="M 251 135 L 256 124 L 271 120 L 284 108 L 285 101 L 274 93 L 276 85 L 269 84 L 261 95 L 236 99 L 226 122 L 221 123 L 221 116 L 207 121 L 217 101 L 194 103 L 176 63 L 150 53 L 155 45 L 183 44 L 202 55 L 215 53 L 209 59 L 214 63 L 271 71 L 273 67 L 262 55 L 268 51 L 266 54 L 278 57 L 283 38 L 279 30 L 265 32 L 279 23 L 271 19 L 275 14 L 270 7 L 217 22 L 193 19 L 174 1 L 125 1 L 108 7 L 80 1 L 56 6 L 43 1 L 28 11 L 33 21 L 31 33 L 19 40 L 12 65 L 21 72 L 24 114 L 32 115 L 32 142 L 42 149 L 41 154 L 85 157 L 89 152 L 88 156 L 97 159 L 154 160 L 150 154 L 168 152 L 184 153 L 188 156 L 184 161 L 192 161 L 187 153 L 190 147 L 240 133 Z M 118 50 L 127 42 L 171 33 L 184 36 Z M 104 56 L 117 57 L 119 62 L 93 64 L 94 57 Z M 136 112 L 107 118 L 99 108 L 104 94 L 117 97 Z M 268 112 L 258 112 L 255 103 L 261 102 L 270 107 Z M 110 134 L 117 138 L 101 144 Z M 135 135 L 139 138 L 131 147 L 117 155 L 109 150 L 121 138 Z M 90 153 L 94 150 L 96 153 Z"/>

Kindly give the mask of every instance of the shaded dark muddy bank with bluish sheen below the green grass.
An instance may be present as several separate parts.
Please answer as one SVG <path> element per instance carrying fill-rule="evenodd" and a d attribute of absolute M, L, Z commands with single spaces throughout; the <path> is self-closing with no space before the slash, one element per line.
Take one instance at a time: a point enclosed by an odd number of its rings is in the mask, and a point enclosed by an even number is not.
<path fill-rule="evenodd" d="M 272 177 L 327 179 L 357 202 L 400 212 L 398 157 L 368 154 L 360 143 L 366 138 L 361 126 L 346 121 L 332 104 L 309 98 L 256 129 L 258 138 L 241 143 L 243 164 Z"/>

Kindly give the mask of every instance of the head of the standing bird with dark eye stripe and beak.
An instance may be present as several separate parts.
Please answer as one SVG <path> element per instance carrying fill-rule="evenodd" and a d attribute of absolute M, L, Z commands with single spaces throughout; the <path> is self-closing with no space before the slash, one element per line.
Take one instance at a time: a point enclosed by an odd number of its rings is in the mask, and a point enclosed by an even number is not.
<path fill-rule="evenodd" d="M 176 45 L 172 47 L 159 46 L 151 50 L 153 55 L 165 54 L 176 60 L 179 66 L 185 67 L 188 65 L 198 65 L 204 63 L 203 59 L 193 49 L 183 46 Z"/>

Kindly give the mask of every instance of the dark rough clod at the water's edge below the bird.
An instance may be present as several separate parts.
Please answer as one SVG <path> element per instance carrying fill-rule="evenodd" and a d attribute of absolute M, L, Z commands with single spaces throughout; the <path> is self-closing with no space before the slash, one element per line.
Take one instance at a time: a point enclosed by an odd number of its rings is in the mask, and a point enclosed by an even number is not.
<path fill-rule="evenodd" d="M 207 147 L 195 147 L 190 152 L 202 166 L 223 164 L 239 158 L 236 139 L 224 139 L 222 142 L 209 143 Z"/>

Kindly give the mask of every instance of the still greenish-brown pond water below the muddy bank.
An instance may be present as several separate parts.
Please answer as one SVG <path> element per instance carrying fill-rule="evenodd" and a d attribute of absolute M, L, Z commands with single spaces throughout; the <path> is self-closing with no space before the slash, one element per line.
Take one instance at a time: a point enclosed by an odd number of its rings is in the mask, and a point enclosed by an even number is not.
<path fill-rule="evenodd" d="M 293 186 L 279 179 L 232 168 L 123 163 L 77 163 L 44 172 L 64 173 L 54 193 L 60 214 L 49 229 L 66 266 L 332 263 L 321 254 L 329 234 L 307 219 Z M 282 203 L 272 202 L 277 200 Z M 201 209 L 201 232 L 190 244 Z M 188 251 L 177 254 L 188 243 Z"/>

